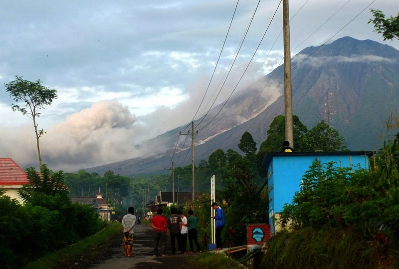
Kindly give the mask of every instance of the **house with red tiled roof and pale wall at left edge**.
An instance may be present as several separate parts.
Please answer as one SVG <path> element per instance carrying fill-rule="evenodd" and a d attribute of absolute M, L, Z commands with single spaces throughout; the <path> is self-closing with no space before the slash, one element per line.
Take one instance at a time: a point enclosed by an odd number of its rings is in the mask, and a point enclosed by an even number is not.
<path fill-rule="evenodd" d="M 11 158 L 0 158 L 0 189 L 5 195 L 22 203 L 18 190 L 23 184 L 29 184 L 26 172 Z"/>

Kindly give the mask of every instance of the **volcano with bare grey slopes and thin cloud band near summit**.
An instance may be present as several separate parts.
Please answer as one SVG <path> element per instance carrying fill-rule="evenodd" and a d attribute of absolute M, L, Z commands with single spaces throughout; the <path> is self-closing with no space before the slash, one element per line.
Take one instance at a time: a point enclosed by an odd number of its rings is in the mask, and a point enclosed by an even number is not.
<path fill-rule="evenodd" d="M 372 40 L 343 37 L 331 44 L 303 49 L 292 58 L 291 66 L 293 113 L 303 124 L 310 129 L 328 120 L 351 150 L 381 147 L 385 122 L 399 104 L 398 50 Z M 252 134 L 259 147 L 274 117 L 284 114 L 283 68 L 279 66 L 195 122 L 196 163 L 207 160 L 218 148 L 238 151 L 245 131 Z M 179 131 L 191 131 L 191 125 L 187 126 L 138 146 L 152 148 L 153 156 L 85 170 L 99 174 L 112 170 L 122 175 L 159 172 L 171 166 L 172 156 L 175 166 L 188 165 L 191 137 L 181 136 L 176 144 Z M 169 150 L 159 152 L 159 145 Z"/>

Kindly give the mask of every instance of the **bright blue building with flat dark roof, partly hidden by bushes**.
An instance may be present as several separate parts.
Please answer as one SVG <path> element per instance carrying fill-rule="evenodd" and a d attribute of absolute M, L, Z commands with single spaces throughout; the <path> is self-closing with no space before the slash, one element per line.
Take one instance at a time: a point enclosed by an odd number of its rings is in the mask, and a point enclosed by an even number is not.
<path fill-rule="evenodd" d="M 285 203 L 291 204 L 295 192 L 300 191 L 301 179 L 313 162 L 321 165 L 335 162 L 335 167 L 369 169 L 369 157 L 373 152 L 290 152 L 267 153 L 262 164 L 267 169 L 269 193 L 269 224 L 271 234 L 279 230 L 276 220 Z"/>

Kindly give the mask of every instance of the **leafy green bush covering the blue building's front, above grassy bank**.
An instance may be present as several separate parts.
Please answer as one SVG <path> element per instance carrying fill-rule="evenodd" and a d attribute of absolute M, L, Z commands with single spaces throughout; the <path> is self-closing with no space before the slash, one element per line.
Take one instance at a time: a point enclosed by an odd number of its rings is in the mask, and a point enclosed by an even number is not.
<path fill-rule="evenodd" d="M 282 225 L 291 222 L 295 229 L 373 227 L 381 221 L 381 211 L 374 202 L 380 194 L 369 184 L 371 176 L 365 170 L 335 167 L 333 162 L 314 162 L 302 178 L 293 204 L 284 206 Z"/>

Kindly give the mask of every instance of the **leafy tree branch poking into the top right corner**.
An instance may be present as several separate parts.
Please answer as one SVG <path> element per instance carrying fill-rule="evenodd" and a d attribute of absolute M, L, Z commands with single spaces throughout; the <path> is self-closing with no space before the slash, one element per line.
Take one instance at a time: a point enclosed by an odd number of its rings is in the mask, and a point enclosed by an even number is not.
<path fill-rule="evenodd" d="M 367 23 L 373 22 L 375 32 L 382 33 L 384 41 L 387 39 L 399 39 L 399 12 L 396 17 L 385 18 L 385 14 L 378 9 L 371 9 L 374 19 L 370 19 Z"/>

